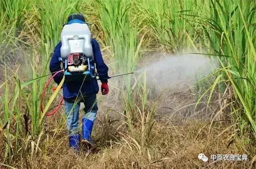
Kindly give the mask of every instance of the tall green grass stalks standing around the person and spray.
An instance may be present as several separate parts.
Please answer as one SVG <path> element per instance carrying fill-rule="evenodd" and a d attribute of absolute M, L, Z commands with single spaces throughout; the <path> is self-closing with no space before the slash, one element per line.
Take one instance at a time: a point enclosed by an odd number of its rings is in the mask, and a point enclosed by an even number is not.
<path fill-rule="evenodd" d="M 210 101 L 215 90 L 221 90 L 223 95 L 228 90 L 229 95 L 223 98 L 228 97 L 226 106 L 236 126 L 234 131 L 249 135 L 253 143 L 256 139 L 255 6 L 256 2 L 250 0 L 0 1 L 0 46 L 7 46 L 6 50 L 10 44 L 12 48 L 24 46 L 29 51 L 24 54 L 26 66 L 21 65 L 17 70 L 4 63 L 8 57 L 5 51 L 0 53 L 4 65 L 1 72 L 4 84 L 0 84 L 4 90 L 0 98 L 0 140 L 6 141 L 4 163 L 12 165 L 18 158 L 34 157 L 40 151 L 38 145 L 45 136 L 46 123 L 39 110 L 40 94 L 49 77 L 50 54 L 60 40 L 62 24 L 75 11 L 85 13 L 92 23 L 94 38 L 110 56 L 109 66 L 115 73 L 135 71 L 139 60 L 148 59 L 142 57 L 144 50 L 173 53 L 205 49 L 207 54 L 215 56 L 220 69 L 214 75 L 215 83 L 204 94 L 210 96 Z M 146 74 L 135 80 L 127 76 L 119 83 L 124 91 L 121 93 L 124 123 L 140 155 L 150 143 L 155 113 L 155 105 L 148 100 L 146 79 Z M 134 81 L 137 83 L 132 88 Z M 48 92 L 45 99 L 51 95 Z M 24 115 L 29 119 L 28 126 L 24 124 Z M 56 130 L 60 121 L 53 122 Z M 139 123 L 139 137 L 135 122 Z"/>

